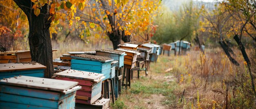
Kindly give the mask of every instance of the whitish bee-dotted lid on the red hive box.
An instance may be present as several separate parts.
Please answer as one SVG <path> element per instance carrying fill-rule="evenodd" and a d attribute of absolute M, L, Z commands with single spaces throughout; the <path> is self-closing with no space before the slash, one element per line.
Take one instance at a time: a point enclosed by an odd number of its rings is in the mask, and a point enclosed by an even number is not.
<path fill-rule="evenodd" d="M 89 81 L 95 81 L 95 82 L 101 81 L 103 79 L 102 77 L 105 78 L 105 76 L 103 75 L 104 74 L 79 71 L 79 70 L 71 70 L 71 69 L 54 74 L 54 76 L 76 78 L 76 79 L 89 80 Z"/>

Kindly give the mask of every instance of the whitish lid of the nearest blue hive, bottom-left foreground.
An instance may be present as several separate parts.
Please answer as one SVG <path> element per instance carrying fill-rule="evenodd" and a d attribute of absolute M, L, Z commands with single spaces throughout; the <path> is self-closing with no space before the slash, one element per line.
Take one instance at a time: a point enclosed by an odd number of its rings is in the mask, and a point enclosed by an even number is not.
<path fill-rule="evenodd" d="M 13 85 L 13 86 L 19 86 L 19 87 L 29 87 L 34 89 L 51 90 L 51 91 L 63 92 L 67 94 L 67 93 L 70 93 L 70 89 L 78 85 L 78 82 L 49 79 L 49 78 L 38 78 L 38 77 L 32 77 L 32 76 L 14 76 L 12 78 L 1 79 L 0 84 Z"/>

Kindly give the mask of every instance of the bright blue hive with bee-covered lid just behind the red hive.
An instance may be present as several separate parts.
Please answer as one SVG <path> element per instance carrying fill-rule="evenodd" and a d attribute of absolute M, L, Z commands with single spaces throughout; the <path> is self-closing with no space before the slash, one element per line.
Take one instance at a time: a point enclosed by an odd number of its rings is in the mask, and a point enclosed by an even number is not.
<path fill-rule="evenodd" d="M 110 77 L 113 59 L 89 54 L 78 54 L 71 57 L 75 58 L 71 60 L 71 69 L 104 74 L 106 78 L 103 81 Z"/>

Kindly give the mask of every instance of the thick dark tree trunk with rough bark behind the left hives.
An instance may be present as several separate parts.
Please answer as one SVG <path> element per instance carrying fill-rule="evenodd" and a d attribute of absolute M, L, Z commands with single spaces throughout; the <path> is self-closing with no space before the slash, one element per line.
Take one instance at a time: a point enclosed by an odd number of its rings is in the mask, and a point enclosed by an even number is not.
<path fill-rule="evenodd" d="M 24 11 L 29 21 L 29 47 L 32 61 L 36 61 L 47 68 L 45 77 L 51 78 L 54 73 L 52 64 L 52 43 L 49 27 L 51 20 L 48 20 L 48 4 L 40 9 L 38 16 L 34 15 L 34 4 L 30 0 L 13 0 Z"/>

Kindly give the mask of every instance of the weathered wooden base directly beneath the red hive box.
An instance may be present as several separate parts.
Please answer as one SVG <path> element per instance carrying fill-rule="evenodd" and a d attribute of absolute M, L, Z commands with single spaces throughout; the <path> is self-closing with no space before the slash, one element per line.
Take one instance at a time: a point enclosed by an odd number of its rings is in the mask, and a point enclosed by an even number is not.
<path fill-rule="evenodd" d="M 108 109 L 109 108 L 110 99 L 100 99 L 93 105 L 85 105 L 76 103 L 76 109 Z"/>

